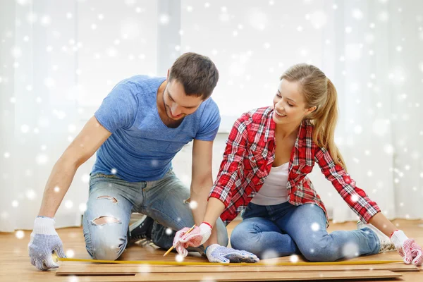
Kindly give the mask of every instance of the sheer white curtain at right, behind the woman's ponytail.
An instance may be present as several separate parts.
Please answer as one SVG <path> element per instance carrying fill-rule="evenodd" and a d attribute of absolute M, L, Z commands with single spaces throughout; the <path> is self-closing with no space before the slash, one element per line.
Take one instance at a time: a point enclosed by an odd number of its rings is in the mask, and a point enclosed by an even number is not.
<path fill-rule="evenodd" d="M 388 218 L 422 219 L 423 3 L 324 4 L 321 66 L 338 89 L 337 141 L 348 171 Z M 356 219 L 319 174 L 314 184 L 333 220 Z"/>

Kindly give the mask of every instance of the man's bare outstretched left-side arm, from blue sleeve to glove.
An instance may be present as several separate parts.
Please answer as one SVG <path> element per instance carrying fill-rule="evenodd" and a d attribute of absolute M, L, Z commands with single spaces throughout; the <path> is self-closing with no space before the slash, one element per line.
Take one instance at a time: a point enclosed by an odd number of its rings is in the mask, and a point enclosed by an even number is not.
<path fill-rule="evenodd" d="M 71 186 L 76 170 L 99 149 L 111 133 L 94 116 L 54 164 L 44 190 L 39 216 L 54 217 Z M 59 188 L 59 190 L 55 188 Z"/>

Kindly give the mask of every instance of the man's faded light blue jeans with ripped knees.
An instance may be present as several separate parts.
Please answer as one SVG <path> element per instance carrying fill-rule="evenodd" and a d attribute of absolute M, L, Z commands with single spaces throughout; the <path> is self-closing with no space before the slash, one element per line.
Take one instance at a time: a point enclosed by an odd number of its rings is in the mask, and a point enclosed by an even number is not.
<path fill-rule="evenodd" d="M 94 174 L 90 177 L 90 196 L 82 226 L 85 246 L 93 259 L 114 260 L 121 256 L 128 243 L 130 214 L 139 212 L 154 219 L 152 241 L 168 249 L 176 231 L 194 225 L 189 203 L 190 190 L 169 170 L 155 181 L 128 182 L 114 175 Z M 171 233 L 166 229 L 171 228 Z M 223 221 L 216 223 L 218 242 L 228 245 Z M 202 246 L 189 248 L 204 252 Z"/>

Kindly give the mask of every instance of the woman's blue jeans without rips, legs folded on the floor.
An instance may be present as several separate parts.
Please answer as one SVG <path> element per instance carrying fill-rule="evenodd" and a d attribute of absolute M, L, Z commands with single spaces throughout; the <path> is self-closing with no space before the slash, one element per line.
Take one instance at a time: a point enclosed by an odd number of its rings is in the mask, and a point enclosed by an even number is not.
<path fill-rule="evenodd" d="M 319 206 L 289 202 L 248 204 L 243 221 L 232 232 L 231 245 L 262 259 L 302 254 L 312 262 L 372 255 L 380 249 L 379 238 L 369 228 L 328 234 L 326 216 Z"/>

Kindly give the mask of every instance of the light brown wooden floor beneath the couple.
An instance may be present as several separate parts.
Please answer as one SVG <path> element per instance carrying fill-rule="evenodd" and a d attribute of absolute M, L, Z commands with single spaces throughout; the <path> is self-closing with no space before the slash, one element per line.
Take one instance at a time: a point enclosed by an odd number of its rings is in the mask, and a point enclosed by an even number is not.
<path fill-rule="evenodd" d="M 415 238 L 419 245 L 423 245 L 423 221 L 407 221 L 396 220 L 393 221 L 398 224 L 410 238 Z M 231 233 L 233 228 L 239 221 L 233 221 L 228 226 L 228 232 Z M 331 224 L 329 232 L 335 230 L 351 230 L 355 228 L 354 222 Z M 82 228 L 62 228 L 58 233 L 63 241 L 65 251 L 68 257 L 73 255 L 74 258 L 90 259 L 85 250 L 84 239 L 82 235 Z M 0 233 L 0 281 L 78 281 L 78 278 L 73 277 L 58 277 L 55 276 L 55 271 L 37 271 L 34 266 L 30 264 L 27 255 L 27 243 L 30 240 L 30 231 L 23 231 L 23 238 L 17 236 L 16 233 Z M 157 250 L 151 246 L 133 245 L 128 247 L 121 259 L 123 260 L 168 260 L 174 261 L 175 255 L 172 253 L 167 257 L 163 257 L 164 251 Z M 396 252 L 387 252 L 379 255 L 372 255 L 367 257 L 358 257 L 355 260 L 397 260 L 400 259 Z M 205 262 L 202 257 L 187 257 L 185 262 Z M 301 261 L 301 259 L 300 259 Z M 288 257 L 281 258 L 281 262 L 289 262 Z M 114 266 L 115 267 L 115 266 Z M 118 264 L 116 265 L 118 267 Z M 393 280 L 378 280 L 378 281 L 423 281 L 423 267 L 420 267 L 419 272 L 401 272 L 401 278 L 394 278 Z M 92 277 L 92 281 L 101 281 L 101 276 Z M 365 281 L 365 280 L 360 280 Z"/>

